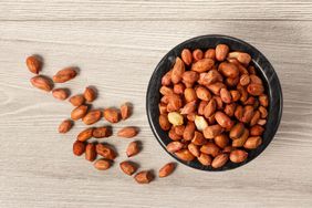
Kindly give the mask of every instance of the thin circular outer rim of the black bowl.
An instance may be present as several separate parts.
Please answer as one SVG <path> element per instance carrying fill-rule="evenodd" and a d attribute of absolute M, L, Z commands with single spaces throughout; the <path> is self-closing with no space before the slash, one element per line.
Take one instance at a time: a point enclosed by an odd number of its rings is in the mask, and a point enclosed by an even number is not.
<path fill-rule="evenodd" d="M 238 164 L 237 166 L 235 167 L 231 167 L 231 168 L 198 168 L 196 166 L 193 166 L 191 165 L 191 162 L 184 162 L 181 159 L 179 159 L 178 157 L 176 157 L 174 154 L 169 153 L 167 149 L 166 149 L 166 145 L 164 144 L 164 142 L 162 141 L 160 136 L 158 135 L 158 132 L 155 127 L 155 124 L 153 123 L 153 118 L 152 118 L 152 114 L 150 114 L 150 108 L 149 108 L 149 100 L 148 100 L 148 95 L 150 94 L 152 92 L 152 80 L 153 77 L 157 74 L 159 67 L 162 66 L 163 62 L 168 59 L 169 54 L 175 51 L 176 49 L 180 48 L 181 45 L 185 45 L 187 44 L 188 42 L 193 42 L 195 40 L 198 40 L 198 39 L 209 39 L 209 38 L 217 38 L 217 39 L 228 39 L 228 40 L 231 40 L 231 41 L 235 41 L 235 42 L 239 42 L 240 44 L 243 44 L 243 45 L 247 45 L 249 46 L 250 49 L 252 49 L 254 52 L 259 53 L 263 61 L 266 63 L 269 64 L 270 69 L 271 69 L 271 73 L 272 75 L 275 77 L 277 80 L 277 91 L 279 92 L 278 95 L 279 97 L 277 97 L 279 100 L 279 112 L 278 112 L 278 117 L 277 117 L 277 123 L 274 125 L 274 128 L 272 129 L 272 137 L 269 139 L 268 144 L 266 146 L 262 147 L 262 150 L 260 150 L 259 154 L 257 154 L 254 157 L 252 157 L 251 159 L 249 159 L 248 162 L 246 163 L 240 163 Z M 252 59 L 253 60 L 253 59 Z M 254 62 L 257 63 L 257 62 Z M 257 63 L 258 64 L 258 63 Z M 168 70 L 169 71 L 169 70 Z M 267 82 L 267 81 L 266 81 Z M 271 87 L 268 87 L 268 91 L 271 91 Z M 270 101 L 270 105 L 271 105 L 271 101 Z M 177 162 L 181 163 L 183 165 L 187 166 L 187 167 L 190 167 L 193 169 L 197 169 L 197 170 L 204 170 L 204 171 L 226 171 L 226 170 L 232 170 L 232 169 L 236 169 L 238 167 L 241 167 L 241 166 L 246 166 L 247 164 L 249 164 L 250 162 L 252 162 L 254 158 L 257 158 L 258 156 L 260 156 L 264 149 L 269 146 L 269 144 L 273 141 L 277 132 L 278 132 L 278 128 L 280 126 L 280 123 L 281 123 L 281 118 L 282 118 L 282 112 L 283 112 L 283 94 L 282 94 L 282 87 L 281 87 L 281 83 L 280 83 L 280 80 L 279 80 L 279 76 L 274 70 L 274 67 L 272 66 L 271 62 L 266 58 L 266 55 L 263 53 L 261 53 L 256 46 L 251 45 L 250 43 L 246 42 L 246 41 L 242 41 L 238 38 L 233 38 L 233 37 L 230 37 L 230 35 L 223 35 L 223 34 L 205 34 L 205 35 L 199 35 L 199 37 L 194 37 L 191 39 L 188 39 L 177 45 L 175 45 L 174 48 L 171 48 L 163 58 L 162 60 L 158 62 L 158 64 L 156 65 L 155 70 L 153 71 L 152 73 L 152 76 L 149 79 L 149 82 L 148 82 L 148 86 L 147 86 L 147 91 L 146 91 L 146 114 L 147 114 L 147 119 L 148 119 L 148 124 L 149 124 L 149 127 L 152 128 L 152 132 L 155 136 L 155 138 L 157 139 L 157 142 L 160 144 L 160 146 L 165 149 L 165 152 L 167 154 L 169 154 L 173 158 L 175 158 Z M 266 133 L 267 129 L 264 129 L 264 133 Z M 263 134 L 264 134 L 263 133 Z"/>

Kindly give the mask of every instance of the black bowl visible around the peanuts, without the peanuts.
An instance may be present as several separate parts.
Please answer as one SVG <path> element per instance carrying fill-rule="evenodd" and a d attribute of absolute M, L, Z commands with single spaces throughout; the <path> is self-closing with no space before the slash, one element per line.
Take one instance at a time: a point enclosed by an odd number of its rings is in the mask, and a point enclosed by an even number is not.
<path fill-rule="evenodd" d="M 217 44 L 225 43 L 229 45 L 231 51 L 242 51 L 247 52 L 252 58 L 252 64 L 257 69 L 257 73 L 259 76 L 262 77 L 262 81 L 264 83 L 266 93 L 270 97 L 269 101 L 269 110 L 268 110 L 268 121 L 266 124 L 266 131 L 262 136 L 262 144 L 253 150 L 249 150 L 248 158 L 243 163 L 240 164 L 233 164 L 231 162 L 228 162 L 225 166 L 221 168 L 215 169 L 211 166 L 202 166 L 197 159 L 194 159 L 193 162 L 184 162 L 177 158 L 174 154 L 170 154 L 166 150 L 166 145 L 171 142 L 171 139 L 168 137 L 167 132 L 164 132 L 159 124 L 158 124 L 158 103 L 160 101 L 160 93 L 159 89 L 162 86 L 162 77 L 163 75 L 168 72 L 174 62 L 176 56 L 180 56 L 180 53 L 183 49 L 201 49 L 207 50 L 210 48 L 216 48 Z M 270 62 L 266 59 L 266 56 L 260 53 L 254 46 L 250 45 L 247 42 L 243 42 L 239 39 L 226 37 L 226 35 L 218 35 L 218 34 L 211 34 L 211 35 L 202 35 L 202 37 L 196 37 L 194 39 L 187 40 L 174 49 L 171 49 L 158 63 L 156 66 L 149 84 L 147 89 L 146 94 L 146 111 L 147 111 L 147 117 L 149 125 L 152 127 L 152 131 L 154 135 L 156 136 L 159 144 L 164 147 L 164 149 L 170 154 L 174 158 L 179 160 L 180 163 L 201 170 L 208 170 L 208 171 L 220 171 L 220 170 L 228 170 L 233 169 L 237 167 L 240 167 L 250 160 L 254 159 L 258 155 L 260 155 L 264 148 L 270 144 L 270 142 L 273 139 L 274 134 L 279 127 L 281 115 L 282 115 L 282 90 L 281 85 L 278 79 L 278 75 L 273 69 L 273 66 L 270 64 Z"/>

